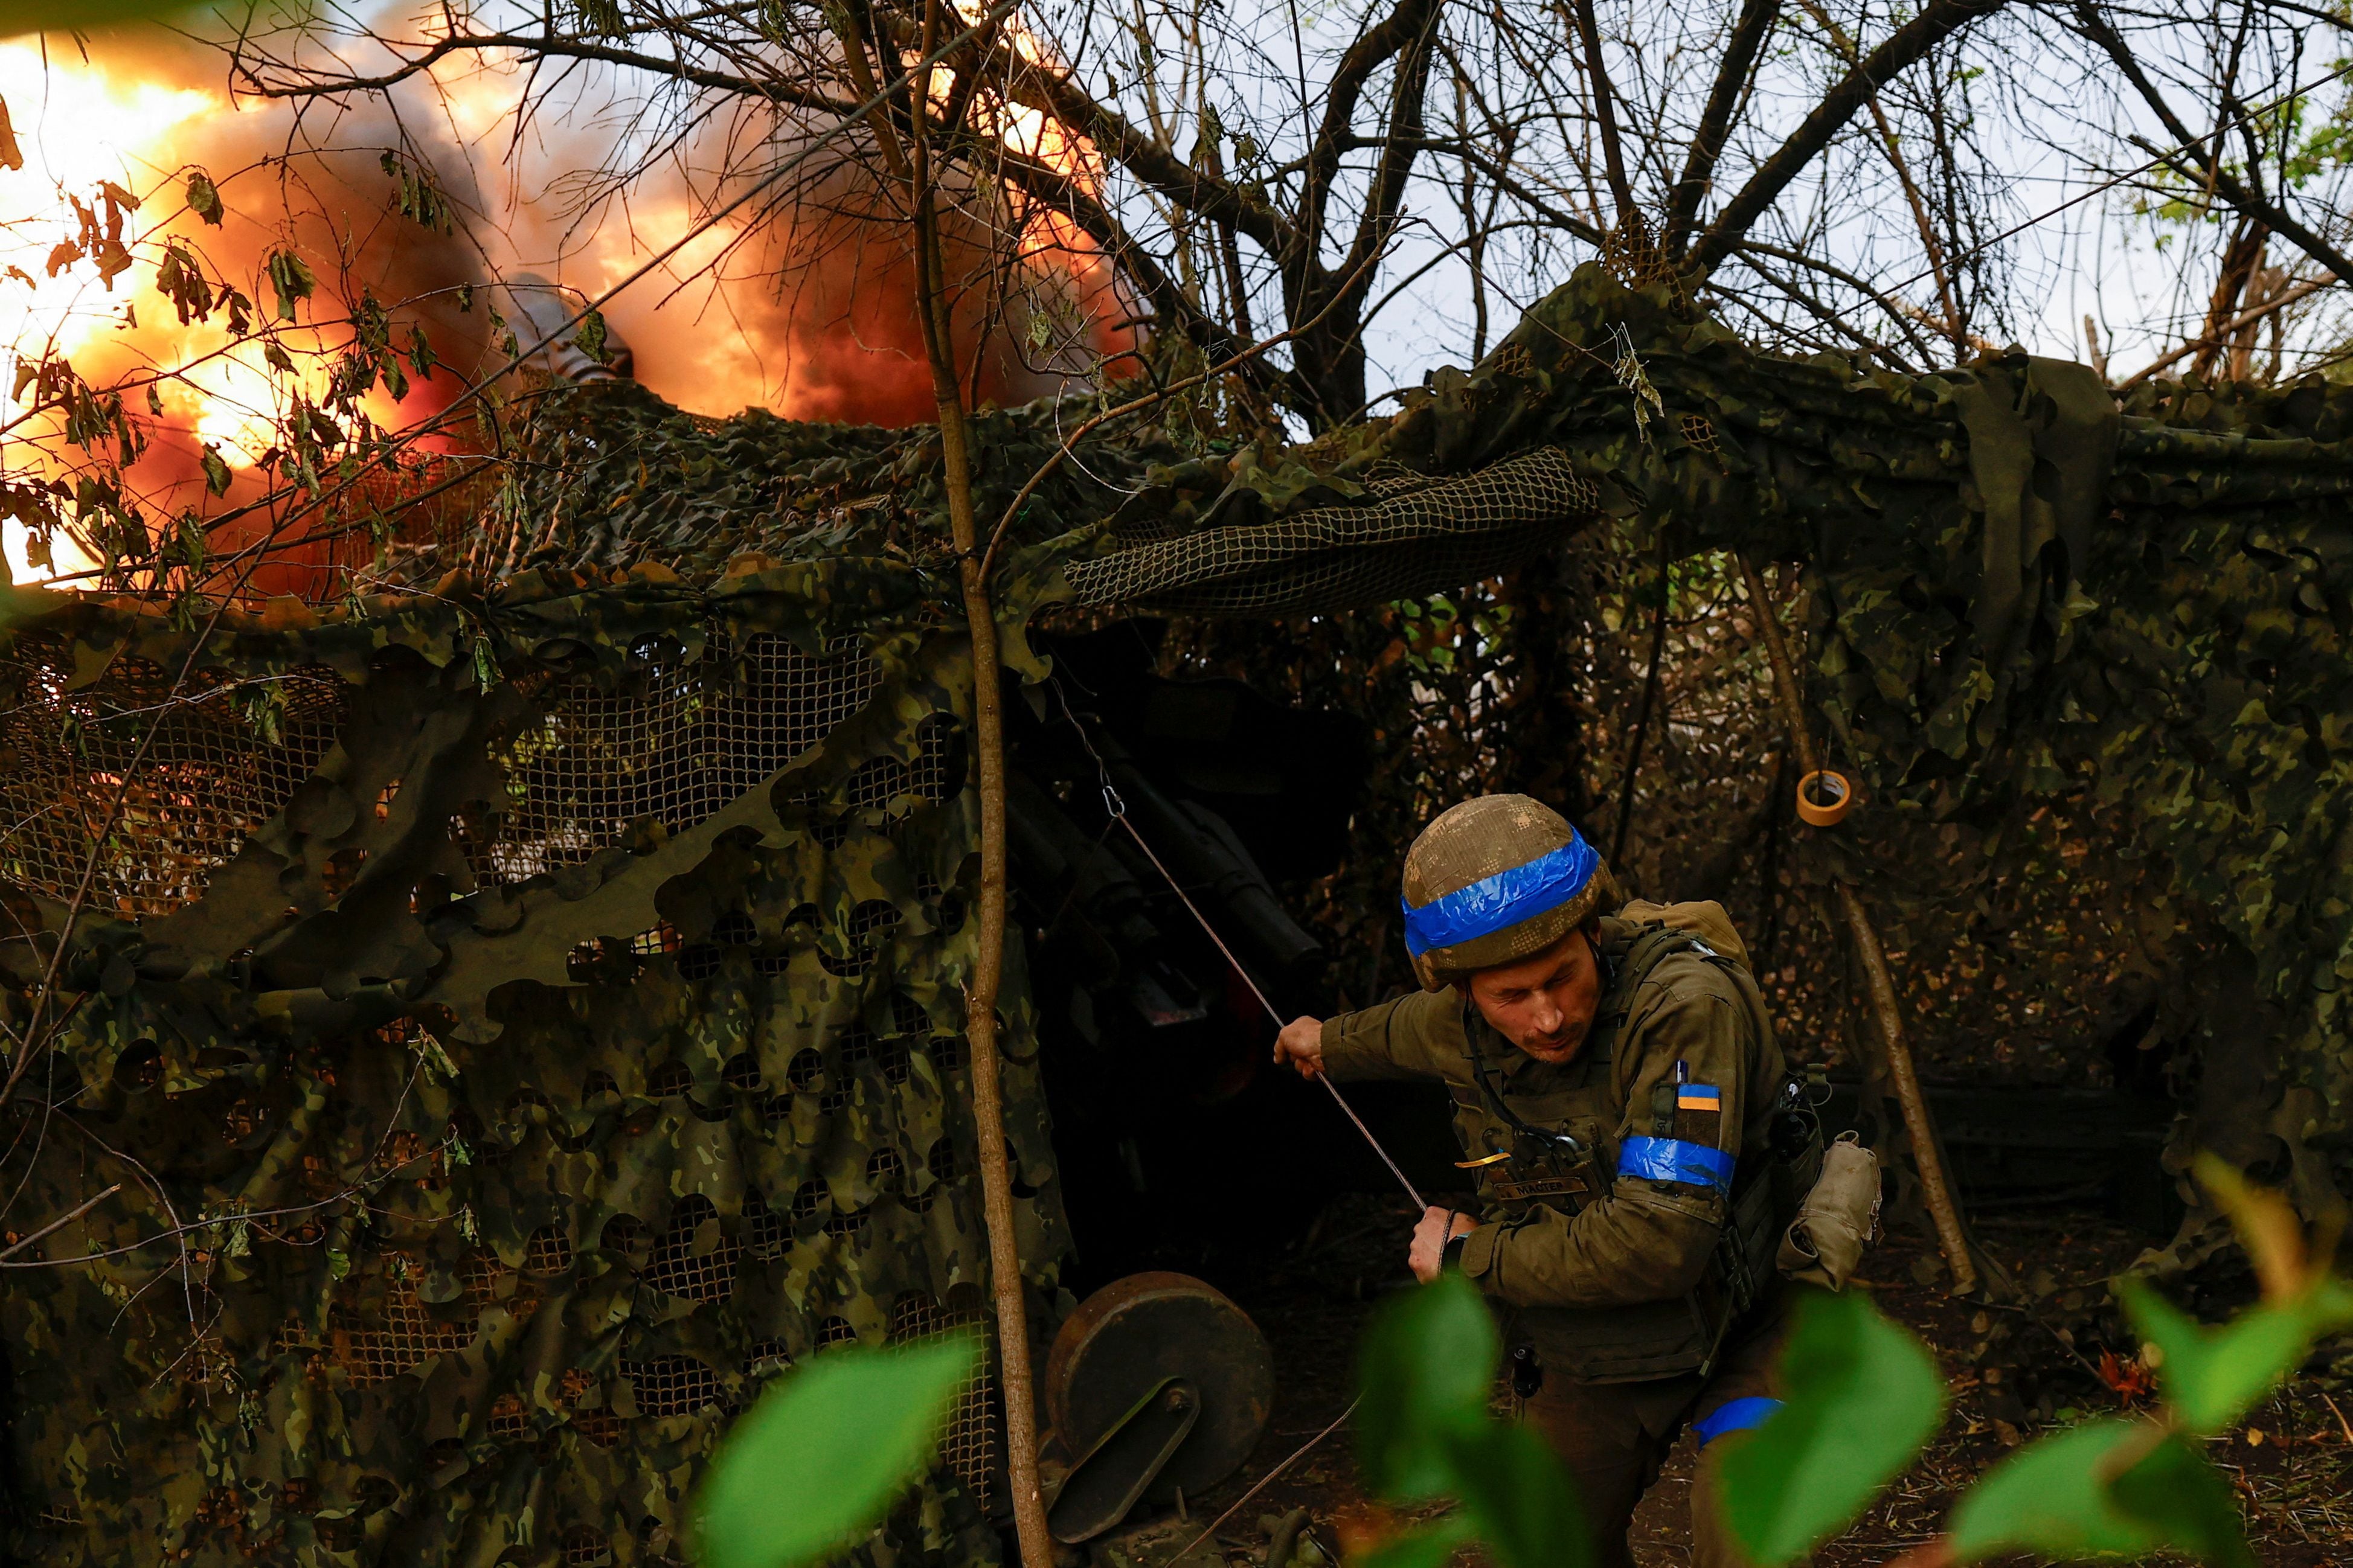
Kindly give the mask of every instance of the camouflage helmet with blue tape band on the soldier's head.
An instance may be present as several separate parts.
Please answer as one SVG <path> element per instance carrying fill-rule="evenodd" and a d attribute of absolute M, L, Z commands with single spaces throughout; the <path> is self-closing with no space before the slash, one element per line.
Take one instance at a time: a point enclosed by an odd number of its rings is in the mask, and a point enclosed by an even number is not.
<path fill-rule="evenodd" d="M 1426 990 L 1544 952 L 1619 905 L 1602 858 L 1527 795 L 1480 795 L 1405 851 L 1405 950 Z"/>

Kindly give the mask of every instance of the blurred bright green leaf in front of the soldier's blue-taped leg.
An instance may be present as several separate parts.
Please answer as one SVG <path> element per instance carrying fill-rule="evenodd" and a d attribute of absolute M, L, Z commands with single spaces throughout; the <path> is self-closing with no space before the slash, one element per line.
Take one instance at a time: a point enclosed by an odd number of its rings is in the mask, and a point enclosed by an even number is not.
<path fill-rule="evenodd" d="M 1760 1568 L 1847 1528 L 1944 1420 L 1937 1363 L 1852 1291 L 1798 1302 L 1781 1387 L 1762 1427 L 1718 1439 L 1725 1523 Z"/>

